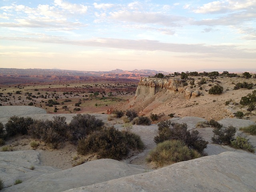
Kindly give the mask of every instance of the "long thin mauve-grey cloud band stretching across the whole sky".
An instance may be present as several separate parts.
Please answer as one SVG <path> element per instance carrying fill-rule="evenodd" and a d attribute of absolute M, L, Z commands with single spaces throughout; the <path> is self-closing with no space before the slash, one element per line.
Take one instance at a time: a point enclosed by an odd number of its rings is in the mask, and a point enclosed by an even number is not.
<path fill-rule="evenodd" d="M 206 45 L 206 44 L 175 44 L 163 43 L 155 40 L 127 40 L 114 38 L 93 38 L 88 40 L 69 40 L 66 38 L 43 36 L 42 38 L 0 37 L 4 40 L 22 40 L 30 42 L 44 42 L 56 44 L 71 44 L 77 46 L 91 46 L 116 48 L 126 50 L 165 51 L 178 53 L 200 54 L 208 58 L 246 58 L 256 59 L 255 49 L 242 49 L 235 45 Z"/>

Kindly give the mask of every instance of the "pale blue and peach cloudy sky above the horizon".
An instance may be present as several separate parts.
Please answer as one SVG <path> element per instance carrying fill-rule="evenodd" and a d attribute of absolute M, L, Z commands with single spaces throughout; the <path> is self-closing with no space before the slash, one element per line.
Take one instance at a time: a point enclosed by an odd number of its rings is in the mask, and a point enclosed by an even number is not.
<path fill-rule="evenodd" d="M 0 0 L 0 68 L 256 68 L 256 0 Z"/>

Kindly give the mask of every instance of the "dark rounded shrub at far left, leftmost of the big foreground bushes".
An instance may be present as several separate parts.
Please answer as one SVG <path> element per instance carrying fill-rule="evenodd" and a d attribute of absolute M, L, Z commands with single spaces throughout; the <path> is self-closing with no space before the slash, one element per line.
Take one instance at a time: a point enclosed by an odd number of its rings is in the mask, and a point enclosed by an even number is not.
<path fill-rule="evenodd" d="M 30 117 L 18 117 L 11 116 L 8 122 L 5 124 L 6 132 L 8 136 L 14 136 L 16 134 L 27 134 L 28 127 L 32 125 L 34 120 Z"/>

